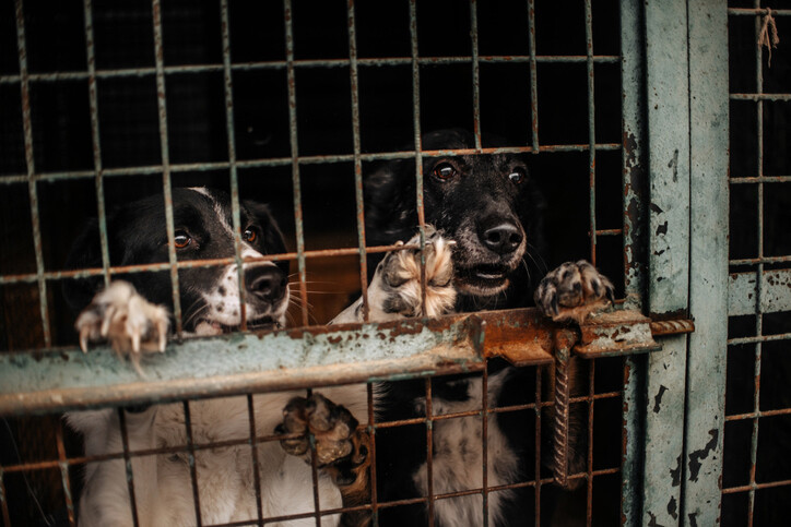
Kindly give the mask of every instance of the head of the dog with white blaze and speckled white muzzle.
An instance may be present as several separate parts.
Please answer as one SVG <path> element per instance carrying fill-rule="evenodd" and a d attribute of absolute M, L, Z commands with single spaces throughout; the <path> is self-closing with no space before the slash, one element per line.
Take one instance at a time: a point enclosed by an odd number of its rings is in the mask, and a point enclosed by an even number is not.
<path fill-rule="evenodd" d="M 241 257 L 285 252 L 283 236 L 269 208 L 240 203 Z M 173 190 L 174 243 L 179 262 L 235 254 L 231 197 L 204 188 Z M 101 267 L 99 232 L 94 220 L 78 238 L 67 267 Z M 168 262 L 165 203 L 162 195 L 145 197 L 108 213 L 110 264 L 140 265 Z M 283 325 L 288 306 L 288 262 L 243 264 L 248 327 Z M 173 310 L 169 271 L 122 276 L 149 301 Z M 238 328 L 241 323 L 239 273 L 236 264 L 178 271 L 184 328 L 201 335 Z M 81 310 L 102 287 L 101 278 L 67 280 L 64 295 Z"/>

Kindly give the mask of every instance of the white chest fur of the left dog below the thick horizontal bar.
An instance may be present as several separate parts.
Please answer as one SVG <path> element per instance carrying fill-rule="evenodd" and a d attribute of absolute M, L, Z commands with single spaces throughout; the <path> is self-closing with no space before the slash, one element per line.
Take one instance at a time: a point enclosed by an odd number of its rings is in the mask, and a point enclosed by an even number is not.
<path fill-rule="evenodd" d="M 367 420 L 364 385 L 320 391 L 345 406 L 361 422 Z M 305 392 L 261 394 L 253 397 L 256 434 L 270 435 L 282 421 L 288 399 Z M 228 440 L 248 440 L 247 397 L 225 397 L 189 403 L 196 445 Z M 175 454 L 132 457 L 134 495 L 141 526 L 178 527 L 196 524 L 192 480 L 184 406 L 152 406 L 141 414 L 125 412 L 131 452 L 180 446 Z M 118 412 L 115 409 L 73 412 L 69 424 L 85 439 L 85 455 L 122 453 Z M 290 456 L 278 441 L 259 443 L 258 464 L 261 506 L 265 517 L 314 512 L 310 466 Z M 255 476 L 249 444 L 196 450 L 196 472 L 204 524 L 257 518 Z M 341 494 L 330 478 L 319 471 L 320 508 L 342 505 Z M 132 512 L 122 459 L 90 463 L 80 500 L 81 526 L 132 525 Z M 323 525 L 337 525 L 338 515 L 323 516 Z M 314 517 L 268 525 L 316 525 Z"/>

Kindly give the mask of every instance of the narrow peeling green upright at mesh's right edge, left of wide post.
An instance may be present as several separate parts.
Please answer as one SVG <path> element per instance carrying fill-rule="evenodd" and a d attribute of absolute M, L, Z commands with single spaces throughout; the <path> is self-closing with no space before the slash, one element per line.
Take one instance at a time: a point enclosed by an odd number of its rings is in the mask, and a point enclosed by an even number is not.
<path fill-rule="evenodd" d="M 622 189 L 624 195 L 624 286 L 626 307 L 642 311 L 647 254 L 645 211 L 645 60 L 641 2 L 621 0 Z M 623 452 L 621 512 L 626 526 L 640 524 L 642 453 L 642 395 L 645 358 L 624 363 Z"/>

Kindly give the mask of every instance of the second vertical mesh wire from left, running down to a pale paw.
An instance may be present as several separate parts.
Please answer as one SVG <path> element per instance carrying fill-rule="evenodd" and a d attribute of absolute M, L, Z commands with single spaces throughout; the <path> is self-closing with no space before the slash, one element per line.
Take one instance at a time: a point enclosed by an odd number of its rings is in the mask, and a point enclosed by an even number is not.
<path fill-rule="evenodd" d="M 99 146 L 98 97 L 96 95 L 96 57 L 94 53 L 93 34 L 93 0 L 84 0 L 85 12 L 85 53 L 87 59 L 87 96 L 91 110 L 91 139 L 93 140 L 93 167 L 96 172 L 96 211 L 98 214 L 99 245 L 102 252 L 102 270 L 105 287 L 110 284 L 110 255 L 107 244 L 107 213 L 105 207 L 105 189 L 102 168 L 102 148 Z"/>

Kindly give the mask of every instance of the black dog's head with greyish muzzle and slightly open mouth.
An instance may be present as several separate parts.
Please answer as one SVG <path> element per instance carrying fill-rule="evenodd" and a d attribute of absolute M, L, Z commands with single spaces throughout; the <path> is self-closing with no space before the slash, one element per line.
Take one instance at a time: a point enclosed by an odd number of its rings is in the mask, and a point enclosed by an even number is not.
<path fill-rule="evenodd" d="M 441 130 L 423 137 L 423 151 L 473 148 L 471 133 Z M 396 160 L 366 178 L 366 232 L 370 244 L 406 240 L 417 225 L 414 160 Z M 508 288 L 528 250 L 541 242 L 542 200 L 521 156 L 423 157 L 426 223 L 456 240 L 459 292 L 476 298 Z"/>

